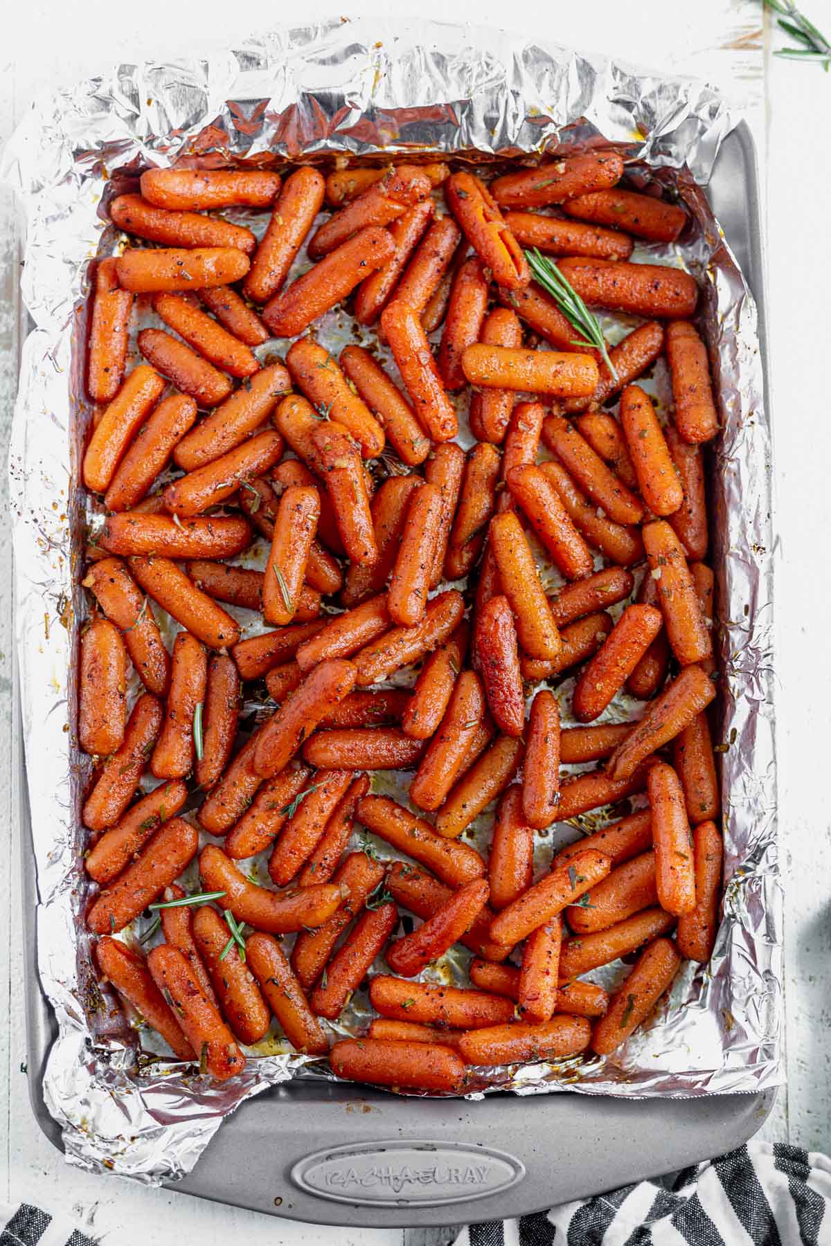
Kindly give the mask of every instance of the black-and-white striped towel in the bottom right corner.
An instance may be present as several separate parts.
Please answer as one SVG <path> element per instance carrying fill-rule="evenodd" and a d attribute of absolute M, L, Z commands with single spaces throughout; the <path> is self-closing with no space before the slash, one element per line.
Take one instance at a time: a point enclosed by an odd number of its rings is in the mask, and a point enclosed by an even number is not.
<path fill-rule="evenodd" d="M 455 1246 L 831 1246 L 831 1160 L 751 1143 L 670 1177 L 468 1225 Z"/>

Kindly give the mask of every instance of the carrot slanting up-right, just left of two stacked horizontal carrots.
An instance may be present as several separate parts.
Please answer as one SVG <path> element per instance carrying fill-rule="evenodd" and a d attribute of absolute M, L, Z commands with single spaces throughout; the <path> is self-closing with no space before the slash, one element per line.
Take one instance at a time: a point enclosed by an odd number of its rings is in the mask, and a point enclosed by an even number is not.
<path fill-rule="evenodd" d="M 321 662 L 305 677 L 263 728 L 254 754 L 254 768 L 268 779 L 282 770 L 316 724 L 355 685 L 356 668 L 351 662 Z"/>

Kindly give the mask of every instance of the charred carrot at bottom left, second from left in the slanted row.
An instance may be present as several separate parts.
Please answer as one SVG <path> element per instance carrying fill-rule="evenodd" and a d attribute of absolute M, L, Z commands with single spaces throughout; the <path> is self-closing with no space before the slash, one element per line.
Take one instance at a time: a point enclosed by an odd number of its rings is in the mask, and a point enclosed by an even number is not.
<path fill-rule="evenodd" d="M 199 991 L 187 958 L 177 947 L 162 943 L 147 957 L 153 982 L 166 999 L 173 1002 L 176 1018 L 204 1069 L 221 1080 L 233 1078 L 245 1068 L 245 1057 L 219 1015 L 219 1009 Z"/>

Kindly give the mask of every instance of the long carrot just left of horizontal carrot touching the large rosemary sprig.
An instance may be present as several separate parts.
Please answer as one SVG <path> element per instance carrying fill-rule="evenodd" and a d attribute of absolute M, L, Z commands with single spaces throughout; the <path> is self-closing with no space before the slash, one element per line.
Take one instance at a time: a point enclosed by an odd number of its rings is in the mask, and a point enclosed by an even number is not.
<path fill-rule="evenodd" d="M 458 432 L 456 409 L 445 392 L 417 309 L 396 295 L 381 312 L 381 329 L 419 424 L 432 441 L 451 441 Z"/>

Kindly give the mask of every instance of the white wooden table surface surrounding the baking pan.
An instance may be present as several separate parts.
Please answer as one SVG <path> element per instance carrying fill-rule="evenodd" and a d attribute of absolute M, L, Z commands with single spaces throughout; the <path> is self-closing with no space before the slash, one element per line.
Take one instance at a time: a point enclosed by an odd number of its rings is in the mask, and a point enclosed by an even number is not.
<path fill-rule="evenodd" d="M 397 7 L 397 5 L 395 5 Z M 819 66 L 772 57 L 780 35 L 760 0 L 419 0 L 401 6 L 453 21 L 511 25 L 541 39 L 610 52 L 667 72 L 706 78 L 739 101 L 754 130 L 767 199 L 771 375 L 776 414 L 777 711 L 780 826 L 787 880 L 787 1087 L 762 1136 L 831 1153 L 831 821 L 827 743 L 831 740 L 829 628 L 829 424 L 826 374 L 827 245 L 825 136 L 831 76 Z M 814 21 L 831 27 L 831 0 L 804 0 Z M 389 5 L 354 0 L 344 12 Z M 331 0 L 227 0 L 173 4 L 142 0 L 25 0 L 16 4 L 0 51 L 0 143 L 32 97 L 118 60 L 201 51 L 268 25 L 328 16 Z M 0 191 L 0 440 L 5 446 L 15 390 L 20 239 L 7 192 Z M 5 459 L 5 450 L 4 450 Z M 0 511 L 5 513 L 5 470 Z M 10 817 L 11 731 L 10 564 L 0 538 L 0 827 Z M 9 857 L 6 857 L 9 861 Z M 25 1059 L 19 862 L 0 868 L 0 1202 L 40 1204 L 74 1217 L 118 1246 L 169 1246 L 184 1235 L 219 1246 L 245 1235 L 258 1244 L 401 1246 L 450 1241 L 452 1232 L 333 1230 L 277 1221 L 184 1195 L 97 1177 L 65 1166 L 29 1108 Z M 7 1020 L 6 1020 L 7 1018 Z"/>

